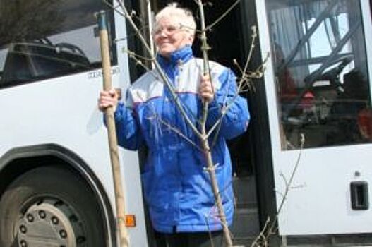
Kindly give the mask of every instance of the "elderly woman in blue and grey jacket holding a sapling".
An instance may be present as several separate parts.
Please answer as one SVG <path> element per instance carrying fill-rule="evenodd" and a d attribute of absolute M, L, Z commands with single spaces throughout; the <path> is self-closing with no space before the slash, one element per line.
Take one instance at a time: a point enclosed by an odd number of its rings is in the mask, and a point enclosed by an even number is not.
<path fill-rule="evenodd" d="M 246 131 L 248 106 L 244 98 L 236 97 L 236 78 L 228 68 L 210 62 L 211 79 L 201 76 L 203 61 L 196 59 L 191 49 L 195 30 L 192 13 L 176 4 L 157 13 L 153 32 L 157 62 L 196 126 L 203 100 L 209 102 L 209 128 L 220 118 L 222 106 L 231 104 L 212 149 L 224 211 L 231 224 L 232 168 L 225 140 Z M 158 246 L 210 246 L 210 236 L 214 246 L 222 246 L 222 225 L 205 158 L 196 147 L 198 138 L 181 116 L 158 71 L 145 73 L 131 85 L 125 105 L 118 103 L 114 91 L 101 92 L 99 108 L 106 107 L 116 109 L 119 145 L 130 150 L 140 145 L 148 147 L 142 182 L 152 226 L 164 241 Z"/>

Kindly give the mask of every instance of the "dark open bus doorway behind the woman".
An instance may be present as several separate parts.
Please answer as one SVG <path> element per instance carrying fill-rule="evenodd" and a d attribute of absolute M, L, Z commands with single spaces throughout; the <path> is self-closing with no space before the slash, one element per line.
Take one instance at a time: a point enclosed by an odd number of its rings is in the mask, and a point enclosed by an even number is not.
<path fill-rule="evenodd" d="M 198 21 L 198 9 L 193 1 L 178 1 L 182 7 L 189 8 Z M 152 9 L 157 13 L 166 6 L 169 1 L 152 1 Z M 234 4 L 234 1 L 219 1 L 218 4 L 205 7 L 206 25 L 213 23 L 222 16 L 227 9 Z M 244 37 L 241 32 L 241 9 L 236 6 L 233 11 L 227 14 L 210 32 L 208 32 L 208 44 L 211 49 L 208 52 L 212 61 L 217 61 L 224 66 L 232 68 L 236 75 L 239 71 L 234 65 L 234 59 L 239 64 L 244 64 L 246 52 L 244 52 Z M 200 40 L 196 37 L 193 44 L 194 54 L 201 57 Z M 250 93 L 250 92 L 249 92 Z M 243 95 L 248 98 L 248 94 Z M 253 162 L 251 126 L 243 135 L 229 142 L 229 150 L 233 164 L 233 183 L 236 197 L 236 210 L 234 224 L 231 227 L 234 236 L 234 244 L 250 246 L 251 241 L 259 234 L 260 224 L 258 217 L 258 203 L 256 195 L 256 171 Z"/>

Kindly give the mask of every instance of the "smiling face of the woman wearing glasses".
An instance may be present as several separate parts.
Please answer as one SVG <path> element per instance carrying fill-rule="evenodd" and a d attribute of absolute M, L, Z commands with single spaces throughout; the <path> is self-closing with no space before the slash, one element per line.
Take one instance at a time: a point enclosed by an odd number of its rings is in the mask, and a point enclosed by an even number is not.
<path fill-rule="evenodd" d="M 153 33 L 158 52 L 165 57 L 187 44 L 193 43 L 193 35 L 181 28 L 175 17 L 163 17 L 155 25 Z"/>

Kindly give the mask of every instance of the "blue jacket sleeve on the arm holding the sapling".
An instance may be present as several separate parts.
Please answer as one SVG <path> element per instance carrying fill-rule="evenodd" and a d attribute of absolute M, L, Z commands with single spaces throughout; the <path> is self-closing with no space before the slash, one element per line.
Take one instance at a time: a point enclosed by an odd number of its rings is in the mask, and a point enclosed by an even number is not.
<path fill-rule="evenodd" d="M 225 69 L 217 80 L 219 82 L 214 84 L 219 86 L 215 87 L 215 98 L 209 104 L 207 127 L 212 128 L 222 117 L 219 134 L 231 139 L 244 133 L 248 127 L 248 103 L 244 97 L 238 95 L 236 76 L 230 69 Z M 222 116 L 225 109 L 227 112 Z"/>

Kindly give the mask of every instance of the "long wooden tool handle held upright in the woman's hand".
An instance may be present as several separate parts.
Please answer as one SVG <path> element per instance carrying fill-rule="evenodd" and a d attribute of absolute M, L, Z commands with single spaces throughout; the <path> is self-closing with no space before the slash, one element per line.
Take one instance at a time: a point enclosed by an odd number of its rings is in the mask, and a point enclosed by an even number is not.
<path fill-rule="evenodd" d="M 97 13 L 98 27 L 100 28 L 100 47 L 102 56 L 102 72 L 103 72 L 103 89 L 105 91 L 112 90 L 111 80 L 111 61 L 109 54 L 109 35 L 107 32 L 107 19 L 104 11 Z M 114 120 L 114 110 L 112 107 L 107 107 L 104 110 L 104 116 L 107 122 L 107 132 L 109 137 L 109 150 L 112 165 L 112 176 L 114 178 L 116 217 L 119 228 L 119 246 L 128 247 L 129 239 L 126 229 L 125 220 L 125 198 L 123 186 L 121 184 L 121 173 L 119 163 L 119 152 L 116 138 L 116 126 Z"/>

